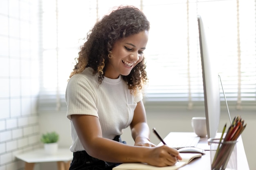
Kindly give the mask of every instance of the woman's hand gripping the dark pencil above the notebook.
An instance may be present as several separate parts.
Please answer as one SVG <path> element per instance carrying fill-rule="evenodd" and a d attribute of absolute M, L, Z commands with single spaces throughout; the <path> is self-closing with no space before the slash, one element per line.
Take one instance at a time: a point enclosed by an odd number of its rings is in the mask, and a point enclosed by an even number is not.
<path fill-rule="evenodd" d="M 166 145 L 148 148 L 150 153 L 145 157 L 145 163 L 153 166 L 173 166 L 178 160 L 182 160 L 176 149 Z"/>

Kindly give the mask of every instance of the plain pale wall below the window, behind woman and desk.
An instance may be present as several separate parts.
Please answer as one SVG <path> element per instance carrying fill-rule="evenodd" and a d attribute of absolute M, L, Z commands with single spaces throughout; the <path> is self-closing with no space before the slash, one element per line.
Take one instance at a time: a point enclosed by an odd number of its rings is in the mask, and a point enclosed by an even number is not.
<path fill-rule="evenodd" d="M 255 122 L 256 122 L 256 112 L 255 111 L 237 111 L 230 110 L 231 119 L 237 115 L 240 115 L 247 123 L 247 127 L 242 134 L 242 139 L 245 147 L 245 153 L 247 155 L 247 160 L 251 170 L 256 169 L 256 162 L 254 160 L 254 153 L 256 152 L 255 142 Z M 196 116 L 204 116 L 204 112 L 201 111 L 166 111 L 166 110 L 147 110 L 147 119 L 150 129 L 157 128 L 157 131 L 162 137 L 168 135 L 169 132 L 193 132 L 191 127 L 191 118 Z M 40 130 L 41 132 L 56 130 L 60 133 L 60 146 L 69 147 L 71 144 L 70 137 L 70 122 L 65 117 L 65 113 L 42 113 L 39 116 Z M 45 123 L 47 122 L 47 124 Z M 221 131 L 225 123 L 229 123 L 229 117 L 227 113 L 221 114 L 220 128 Z M 133 145 L 133 140 L 130 136 L 130 128 L 124 130 L 122 135 L 122 140 L 125 140 L 128 144 Z M 155 135 L 151 135 L 150 140 L 154 144 L 159 143 L 159 139 Z M 238 155 L 239 159 L 239 155 Z M 56 166 L 55 164 L 41 164 L 40 170 L 47 170 L 50 166 Z M 54 169 L 52 169 L 54 170 Z"/>

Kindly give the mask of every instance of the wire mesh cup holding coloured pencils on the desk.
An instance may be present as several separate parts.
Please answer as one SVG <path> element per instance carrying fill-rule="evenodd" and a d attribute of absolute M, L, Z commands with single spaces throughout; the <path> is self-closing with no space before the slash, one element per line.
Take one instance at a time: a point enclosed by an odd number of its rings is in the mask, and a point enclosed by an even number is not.
<path fill-rule="evenodd" d="M 211 170 L 237 170 L 236 142 L 208 139 L 211 153 Z"/>

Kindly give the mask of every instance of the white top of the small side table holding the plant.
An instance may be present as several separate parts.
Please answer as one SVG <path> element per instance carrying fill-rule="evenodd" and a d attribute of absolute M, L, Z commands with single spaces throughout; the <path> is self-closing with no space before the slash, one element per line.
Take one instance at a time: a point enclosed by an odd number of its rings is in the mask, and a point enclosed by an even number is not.
<path fill-rule="evenodd" d="M 73 159 L 73 152 L 69 148 L 58 148 L 56 154 L 47 154 L 43 148 L 32 150 L 15 155 L 18 159 L 27 163 L 70 161 Z"/>

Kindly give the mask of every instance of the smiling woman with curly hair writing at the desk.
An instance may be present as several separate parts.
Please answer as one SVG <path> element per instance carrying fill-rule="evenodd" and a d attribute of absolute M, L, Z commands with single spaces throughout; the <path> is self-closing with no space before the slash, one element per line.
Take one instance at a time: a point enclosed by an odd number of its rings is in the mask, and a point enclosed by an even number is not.
<path fill-rule="evenodd" d="M 142 102 L 149 22 L 135 7 L 119 7 L 97 22 L 81 46 L 66 89 L 74 152 L 70 170 L 112 169 L 118 163 L 171 166 L 177 150 L 156 147 Z M 121 142 L 130 126 L 134 146 Z"/>

